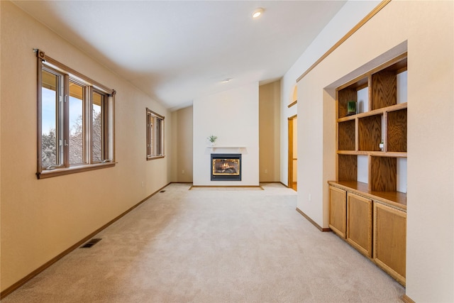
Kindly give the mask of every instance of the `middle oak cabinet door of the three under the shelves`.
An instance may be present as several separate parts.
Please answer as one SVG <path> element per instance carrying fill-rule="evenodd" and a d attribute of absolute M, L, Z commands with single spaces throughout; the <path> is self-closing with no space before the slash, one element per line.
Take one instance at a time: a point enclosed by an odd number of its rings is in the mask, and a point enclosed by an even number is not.
<path fill-rule="evenodd" d="M 347 241 L 372 258 L 372 200 L 347 194 Z"/>

